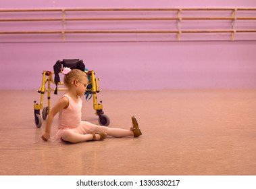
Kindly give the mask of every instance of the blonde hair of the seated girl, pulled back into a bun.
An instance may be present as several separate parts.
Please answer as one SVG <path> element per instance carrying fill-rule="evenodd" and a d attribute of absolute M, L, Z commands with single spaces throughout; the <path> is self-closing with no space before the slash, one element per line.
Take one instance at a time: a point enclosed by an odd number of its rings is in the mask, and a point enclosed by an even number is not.
<path fill-rule="evenodd" d="M 74 82 L 74 80 L 84 80 L 86 79 L 87 82 L 88 82 L 88 79 L 87 79 L 87 75 L 85 74 L 85 72 L 82 72 L 81 70 L 78 70 L 78 69 L 73 69 L 71 70 L 68 74 L 66 74 L 64 76 L 64 84 L 68 87 L 68 88 L 71 88 L 72 86 L 72 83 Z"/>

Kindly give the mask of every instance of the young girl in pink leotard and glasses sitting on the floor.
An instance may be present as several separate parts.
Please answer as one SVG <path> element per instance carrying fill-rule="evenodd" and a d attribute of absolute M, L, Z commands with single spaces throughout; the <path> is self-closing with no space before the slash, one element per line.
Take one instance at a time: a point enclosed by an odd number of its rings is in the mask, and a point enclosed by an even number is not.
<path fill-rule="evenodd" d="M 49 112 L 45 134 L 42 136 L 43 140 L 49 140 L 53 117 L 57 113 L 59 113 L 59 123 L 57 133 L 51 138 L 53 142 L 64 140 L 76 143 L 88 140 L 104 140 L 108 135 L 113 137 L 138 137 L 142 134 L 134 116 L 132 117 L 133 126 L 130 130 L 97 126 L 87 121 L 82 121 L 82 99 L 80 97 L 86 91 L 87 75 L 81 70 L 71 70 L 70 68 L 64 68 L 62 73 L 65 74 L 64 84 L 68 87 L 68 92 Z"/>

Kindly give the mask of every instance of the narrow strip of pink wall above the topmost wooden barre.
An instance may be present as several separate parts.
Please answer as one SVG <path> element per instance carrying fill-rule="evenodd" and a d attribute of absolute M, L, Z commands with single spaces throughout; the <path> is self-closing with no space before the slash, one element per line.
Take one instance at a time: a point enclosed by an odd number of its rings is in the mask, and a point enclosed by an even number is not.
<path fill-rule="evenodd" d="M 38 7 L 255 7 L 254 0 L 1 0 L 1 8 Z"/>

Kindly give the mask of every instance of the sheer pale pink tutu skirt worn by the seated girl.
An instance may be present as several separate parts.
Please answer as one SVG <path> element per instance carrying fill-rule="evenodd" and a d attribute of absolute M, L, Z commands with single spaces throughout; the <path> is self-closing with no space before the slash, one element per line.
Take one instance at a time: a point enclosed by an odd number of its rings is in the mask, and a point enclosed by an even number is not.
<path fill-rule="evenodd" d="M 93 134 L 93 132 L 100 132 L 102 131 L 101 126 L 97 126 L 95 124 L 91 124 L 88 121 L 80 121 L 80 124 L 78 126 L 73 127 L 73 128 L 59 128 L 56 132 L 56 134 L 51 137 L 51 142 L 61 142 L 63 141 L 61 139 L 61 134 L 63 130 L 72 130 L 72 132 L 78 133 L 78 134 Z"/>

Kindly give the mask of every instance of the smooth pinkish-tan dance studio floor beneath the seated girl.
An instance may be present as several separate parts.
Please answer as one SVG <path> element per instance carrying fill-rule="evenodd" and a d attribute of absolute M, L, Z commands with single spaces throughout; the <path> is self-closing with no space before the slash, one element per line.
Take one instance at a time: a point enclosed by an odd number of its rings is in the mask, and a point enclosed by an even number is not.
<path fill-rule="evenodd" d="M 41 140 L 39 99 L 0 90 L 0 175 L 256 175 L 256 90 L 103 91 L 110 127 L 130 128 L 135 115 L 143 136 L 80 144 Z M 94 113 L 84 100 L 82 119 L 97 124 Z"/>

